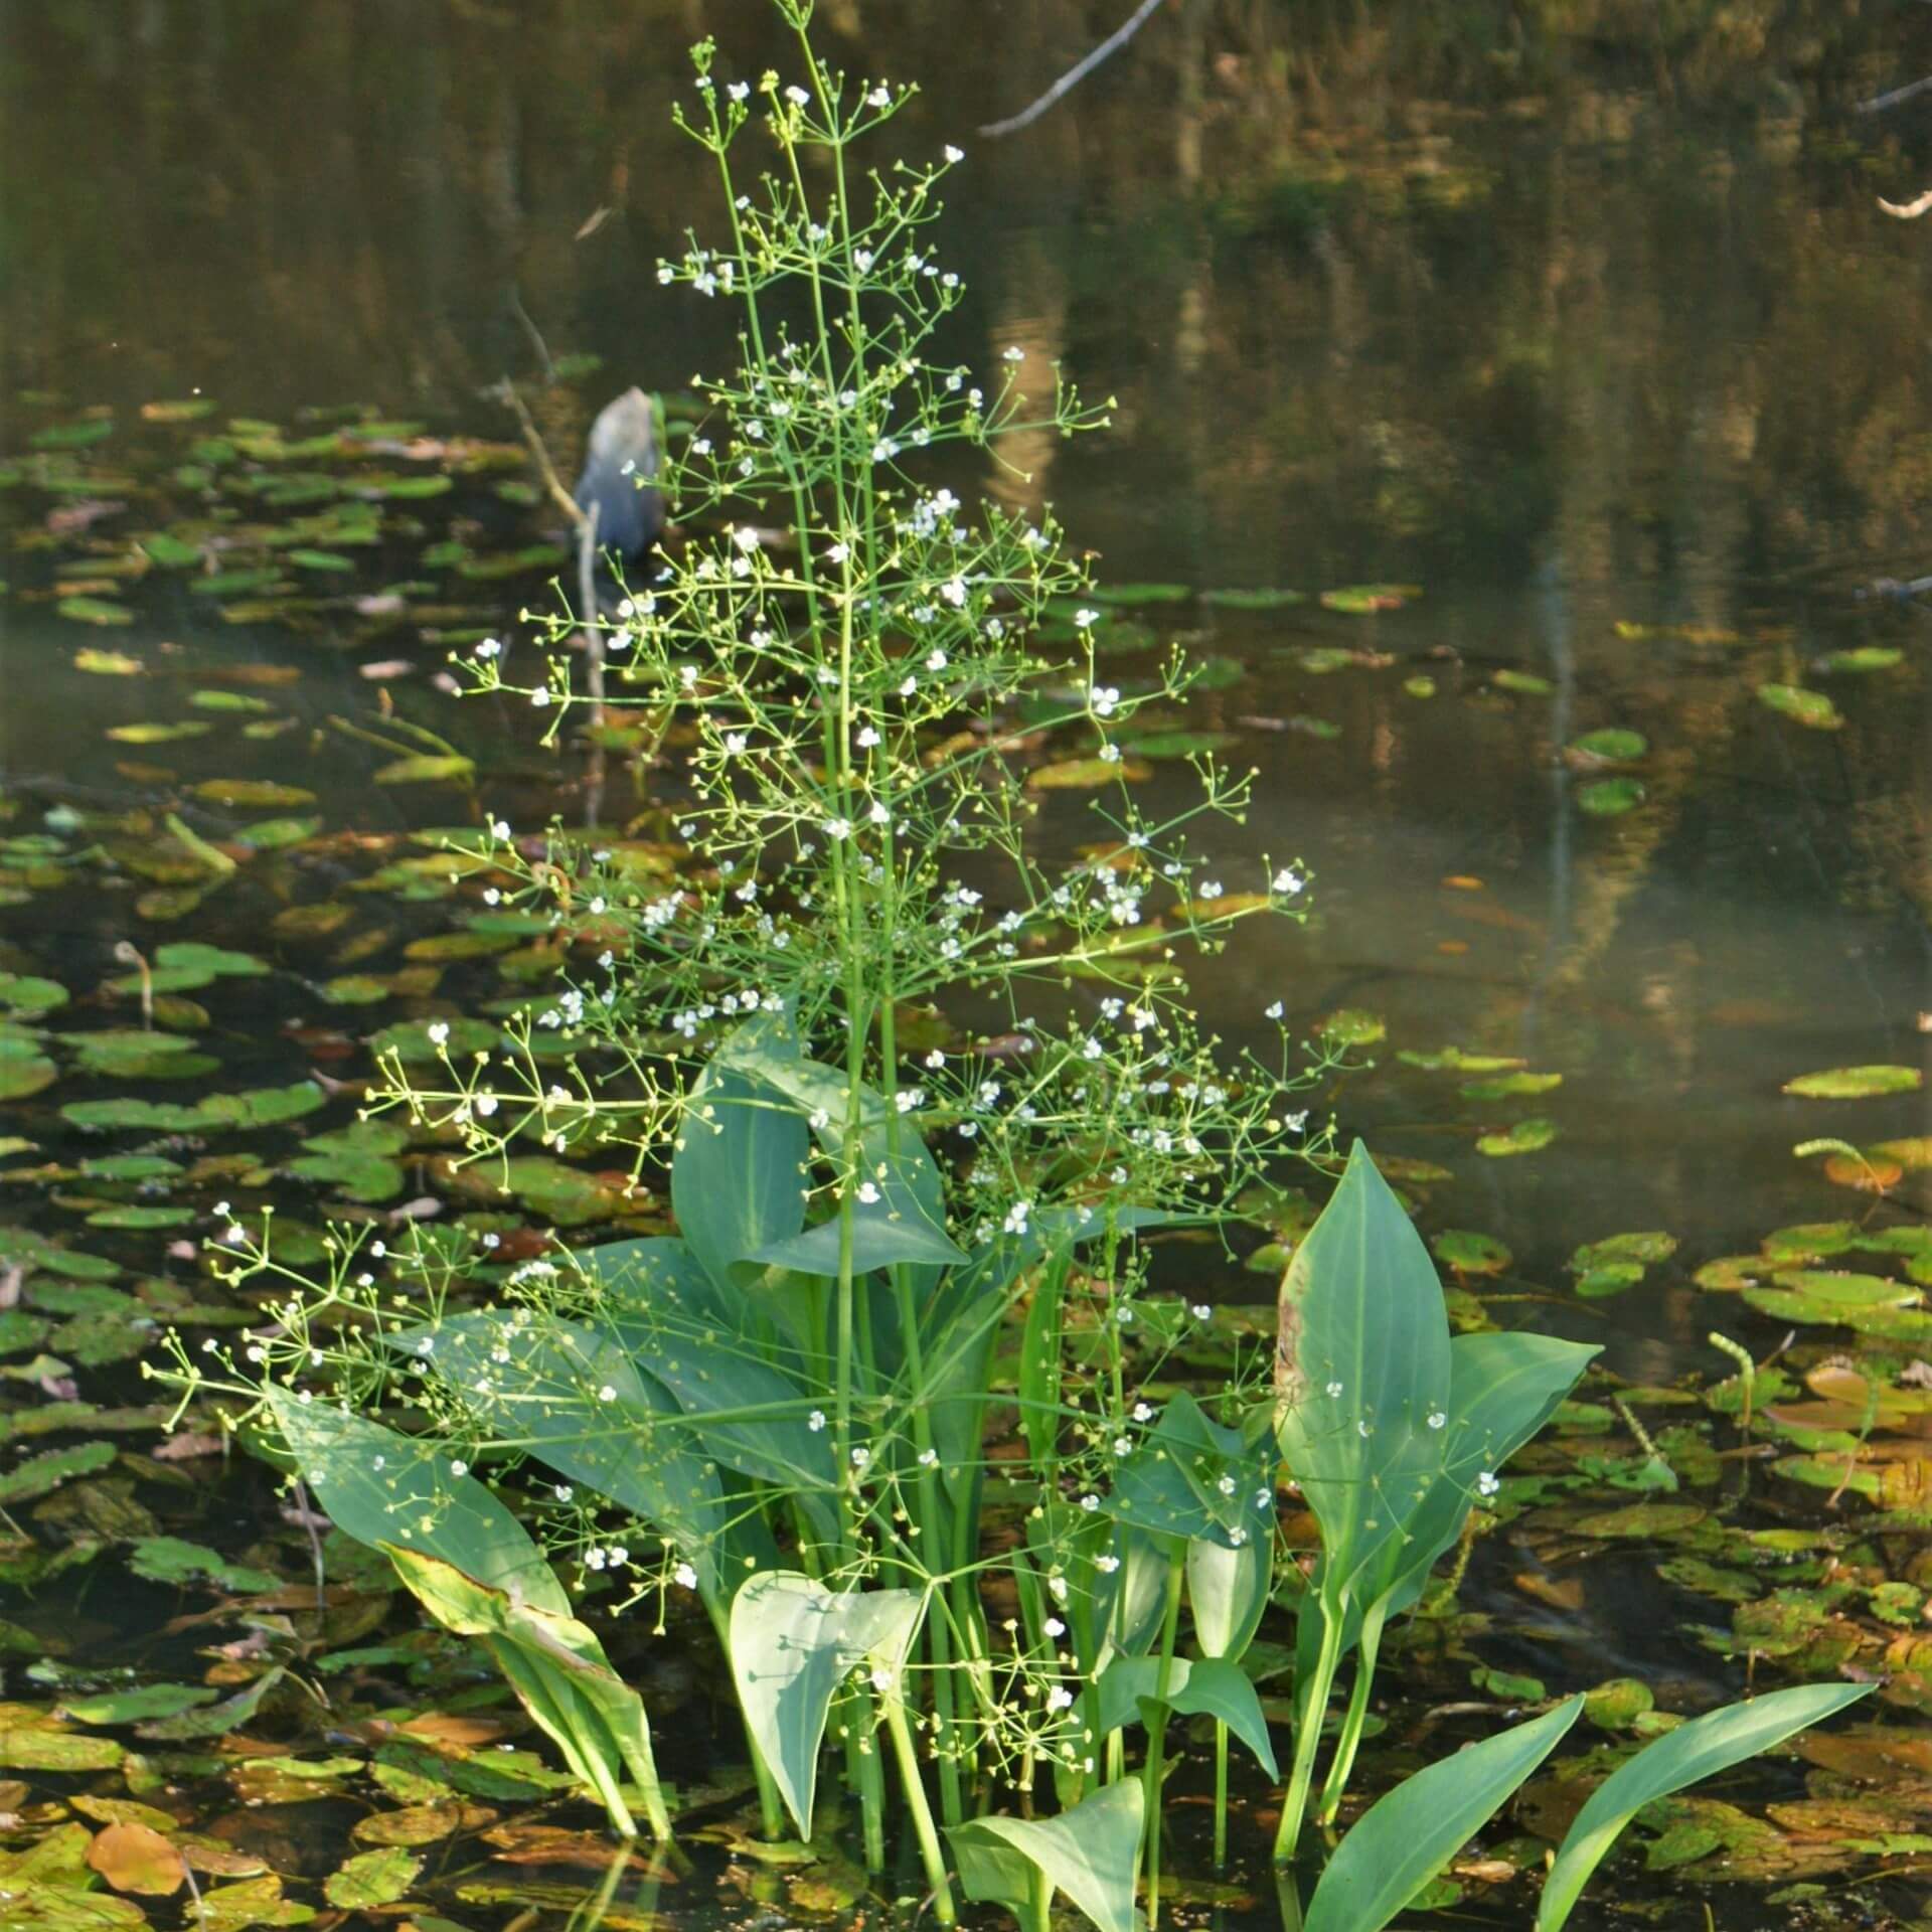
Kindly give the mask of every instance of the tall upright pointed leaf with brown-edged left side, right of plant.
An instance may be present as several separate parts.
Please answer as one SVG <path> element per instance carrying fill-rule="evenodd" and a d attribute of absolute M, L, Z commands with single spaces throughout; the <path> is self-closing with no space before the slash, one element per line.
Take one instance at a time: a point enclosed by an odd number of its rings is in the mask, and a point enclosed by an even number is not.
<path fill-rule="evenodd" d="M 1275 1343 L 1281 1453 L 1321 1524 L 1337 1607 L 1443 1472 L 1449 1321 L 1422 1236 L 1356 1142 L 1333 1200 L 1281 1279 Z"/>

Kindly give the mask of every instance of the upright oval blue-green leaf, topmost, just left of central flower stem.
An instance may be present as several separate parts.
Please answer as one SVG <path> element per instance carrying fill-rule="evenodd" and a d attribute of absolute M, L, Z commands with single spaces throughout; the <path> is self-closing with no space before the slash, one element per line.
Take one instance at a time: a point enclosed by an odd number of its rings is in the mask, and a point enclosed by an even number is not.
<path fill-rule="evenodd" d="M 730 1053 L 726 1043 L 692 1092 L 670 1163 L 678 1231 L 721 1289 L 753 1271 L 748 1256 L 804 1227 L 811 1155 L 796 1103 L 736 1072 Z"/>

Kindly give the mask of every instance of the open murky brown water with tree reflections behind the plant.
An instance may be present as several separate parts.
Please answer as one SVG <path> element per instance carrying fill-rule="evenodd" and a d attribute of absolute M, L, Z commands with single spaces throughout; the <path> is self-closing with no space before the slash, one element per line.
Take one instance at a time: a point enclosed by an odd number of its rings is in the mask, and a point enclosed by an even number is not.
<path fill-rule="evenodd" d="M 1115 576 L 1426 589 L 1370 618 L 1198 620 L 1260 676 L 1198 699 L 1262 765 L 1229 864 L 1300 852 L 1323 885 L 1310 939 L 1217 964 L 1211 997 L 1231 1024 L 1281 993 L 1310 1020 L 1370 1007 L 1391 1047 L 1563 1072 L 1561 1138 L 1528 1159 L 1474 1157 L 1493 1111 L 1439 1080 L 1350 1101 L 1453 1153 L 1453 1217 L 1532 1267 L 1625 1225 L 1716 1250 L 1832 1211 L 1789 1148 L 1878 1115 L 1777 1086 L 1922 1059 L 1932 1009 L 1926 626 L 1853 597 L 1932 553 L 1932 236 L 1874 211 L 1932 155 L 1909 114 L 1849 112 L 1932 66 L 1922 10 L 1760 0 L 1665 31 L 1596 6 L 1524 35 L 1488 8 L 1188 0 L 1024 137 L 974 143 L 1092 44 L 1092 12 L 1009 0 L 964 31 L 941 0 L 848 0 L 829 23 L 854 70 L 925 79 L 914 147 L 972 151 L 962 352 L 1020 346 L 1119 398 L 1111 439 L 962 481 L 1055 502 Z M 665 118 L 705 27 L 734 70 L 782 64 L 738 6 L 471 0 L 408 31 L 375 0 L 0 6 L 0 247 L 23 270 L 0 278 L 0 446 L 44 421 L 21 390 L 126 408 L 197 384 L 270 417 L 357 398 L 510 435 L 485 390 L 533 373 L 520 305 L 554 355 L 603 355 L 537 404 L 560 450 L 614 386 L 717 365 L 723 317 L 651 272 L 709 187 Z M 118 699 L 64 670 L 68 628 L 17 601 L 0 624 L 8 773 L 124 792 L 97 736 Z M 1830 686 L 1841 732 L 1752 696 L 1874 639 L 1905 661 Z M 1296 655 L 1364 643 L 1395 663 Z M 292 649 L 317 715 L 367 697 Z M 1646 800 L 1594 821 L 1557 753 L 1605 724 L 1650 740 Z M 1662 1304 L 1615 1325 L 1696 1345 Z"/>

